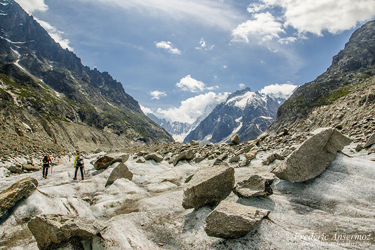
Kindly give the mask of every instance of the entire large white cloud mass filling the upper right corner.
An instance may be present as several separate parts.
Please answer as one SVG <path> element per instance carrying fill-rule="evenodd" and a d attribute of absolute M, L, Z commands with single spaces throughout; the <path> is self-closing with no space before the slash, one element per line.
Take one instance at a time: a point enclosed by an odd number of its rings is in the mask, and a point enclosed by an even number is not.
<path fill-rule="evenodd" d="M 358 22 L 371 20 L 375 17 L 375 1 L 259 0 L 251 3 L 247 11 L 252 19 L 232 30 L 232 41 L 249 43 L 251 37 L 261 42 L 276 39 L 281 44 L 289 44 L 306 39 L 307 33 L 338 34 L 356 27 Z M 286 35 L 286 28 L 295 29 L 295 34 Z M 281 37 L 284 34 L 286 37 Z"/>

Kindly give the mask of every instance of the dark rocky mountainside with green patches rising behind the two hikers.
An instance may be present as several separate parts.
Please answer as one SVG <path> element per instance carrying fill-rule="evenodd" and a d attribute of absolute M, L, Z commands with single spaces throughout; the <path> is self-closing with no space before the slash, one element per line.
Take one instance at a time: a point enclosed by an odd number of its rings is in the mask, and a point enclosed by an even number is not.
<path fill-rule="evenodd" d="M 83 66 L 15 1 L 0 3 L 4 154 L 118 149 L 173 140 L 142 113 L 120 82 Z"/>

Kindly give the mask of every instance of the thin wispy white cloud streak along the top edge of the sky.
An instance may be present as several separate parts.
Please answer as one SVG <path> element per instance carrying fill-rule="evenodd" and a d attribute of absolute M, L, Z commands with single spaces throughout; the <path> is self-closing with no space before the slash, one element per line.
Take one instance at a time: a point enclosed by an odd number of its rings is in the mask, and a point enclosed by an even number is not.
<path fill-rule="evenodd" d="M 81 0 L 103 3 L 131 12 L 139 12 L 163 19 L 194 21 L 200 25 L 231 30 L 242 14 L 230 4 L 218 0 Z"/>

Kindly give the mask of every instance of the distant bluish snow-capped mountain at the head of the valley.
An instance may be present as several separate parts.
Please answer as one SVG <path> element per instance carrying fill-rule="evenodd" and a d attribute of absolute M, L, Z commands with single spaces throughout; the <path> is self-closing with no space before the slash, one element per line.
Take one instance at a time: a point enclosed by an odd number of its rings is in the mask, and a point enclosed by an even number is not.
<path fill-rule="evenodd" d="M 186 138 L 205 143 L 229 141 L 237 134 L 241 141 L 253 140 L 262 134 L 276 117 L 282 98 L 251 92 L 250 88 L 236 91 L 215 109 Z"/>

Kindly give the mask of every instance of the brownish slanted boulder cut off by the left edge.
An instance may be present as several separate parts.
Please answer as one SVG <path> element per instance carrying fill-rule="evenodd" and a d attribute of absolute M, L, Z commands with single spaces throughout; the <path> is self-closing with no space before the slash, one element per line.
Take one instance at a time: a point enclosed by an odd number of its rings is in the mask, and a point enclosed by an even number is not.
<path fill-rule="evenodd" d="M 38 187 L 32 177 L 24 178 L 0 193 L 0 216 L 13 207 L 23 197 L 28 197 Z"/>

